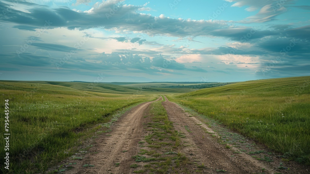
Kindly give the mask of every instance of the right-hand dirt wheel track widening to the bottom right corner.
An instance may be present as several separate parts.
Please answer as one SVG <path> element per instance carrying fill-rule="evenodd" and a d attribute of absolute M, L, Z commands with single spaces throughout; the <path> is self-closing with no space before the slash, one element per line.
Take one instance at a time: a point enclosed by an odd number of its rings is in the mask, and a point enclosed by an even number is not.
<path fill-rule="evenodd" d="M 188 142 L 192 146 L 189 146 L 183 151 L 186 154 L 194 154 L 195 160 L 201 161 L 208 168 L 206 172 L 217 173 L 216 169 L 225 169 L 227 172 L 232 174 L 241 173 L 308 173 L 307 167 L 301 166 L 299 164 L 294 164 L 293 168 L 300 168 L 300 171 L 279 171 L 277 166 L 272 166 L 271 163 L 262 162 L 255 160 L 250 155 L 246 153 L 237 154 L 237 158 L 232 158 L 235 156 L 233 151 L 238 149 L 231 147 L 231 149 L 226 149 L 224 145 L 217 142 L 217 138 L 210 137 L 210 135 L 205 133 L 213 132 L 212 129 L 207 127 L 201 121 L 195 117 L 189 117 L 187 112 L 184 112 L 183 108 L 180 108 L 177 104 L 169 102 L 166 96 L 164 96 L 166 101 L 163 102 L 163 106 L 168 113 L 168 117 L 174 122 L 174 127 L 178 131 L 186 133 L 188 137 Z M 185 126 L 188 126 L 191 133 L 189 133 Z M 203 137 L 203 138 L 202 138 Z M 187 151 L 187 152 L 186 152 Z M 212 168 L 211 168 L 212 167 Z M 261 169 L 264 168 L 264 171 Z"/>

